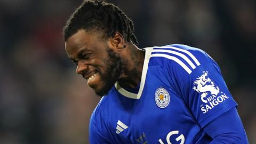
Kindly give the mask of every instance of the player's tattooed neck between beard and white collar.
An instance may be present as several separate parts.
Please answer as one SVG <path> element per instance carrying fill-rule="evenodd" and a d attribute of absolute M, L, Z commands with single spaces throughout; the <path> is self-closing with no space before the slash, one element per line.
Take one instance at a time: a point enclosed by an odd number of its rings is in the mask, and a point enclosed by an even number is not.
<path fill-rule="evenodd" d="M 138 49 L 134 44 L 129 44 L 120 53 L 123 61 L 123 73 L 118 79 L 119 85 L 135 88 L 141 80 L 145 51 Z"/>

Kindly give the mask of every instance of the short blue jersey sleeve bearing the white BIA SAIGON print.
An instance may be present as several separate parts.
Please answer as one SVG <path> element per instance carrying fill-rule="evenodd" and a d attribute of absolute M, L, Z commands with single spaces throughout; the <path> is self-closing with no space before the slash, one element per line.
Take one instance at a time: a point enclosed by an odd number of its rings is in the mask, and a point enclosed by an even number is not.
<path fill-rule="evenodd" d="M 190 71 L 173 63 L 171 77 L 175 89 L 185 101 L 187 107 L 201 127 L 221 116 L 229 109 L 237 106 L 221 75 L 217 63 L 199 49 L 187 50 L 195 67 Z M 189 57 L 189 55 L 188 55 Z"/>

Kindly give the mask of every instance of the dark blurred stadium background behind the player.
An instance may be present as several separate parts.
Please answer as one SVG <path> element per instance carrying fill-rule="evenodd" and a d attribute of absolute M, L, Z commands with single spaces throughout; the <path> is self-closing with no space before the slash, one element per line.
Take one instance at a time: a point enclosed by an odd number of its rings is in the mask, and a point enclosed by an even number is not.
<path fill-rule="evenodd" d="M 139 47 L 186 44 L 222 69 L 250 143 L 256 143 L 256 1 L 113 2 Z M 61 34 L 82 0 L 0 0 L 0 143 L 88 142 L 99 98 L 75 74 Z"/>

